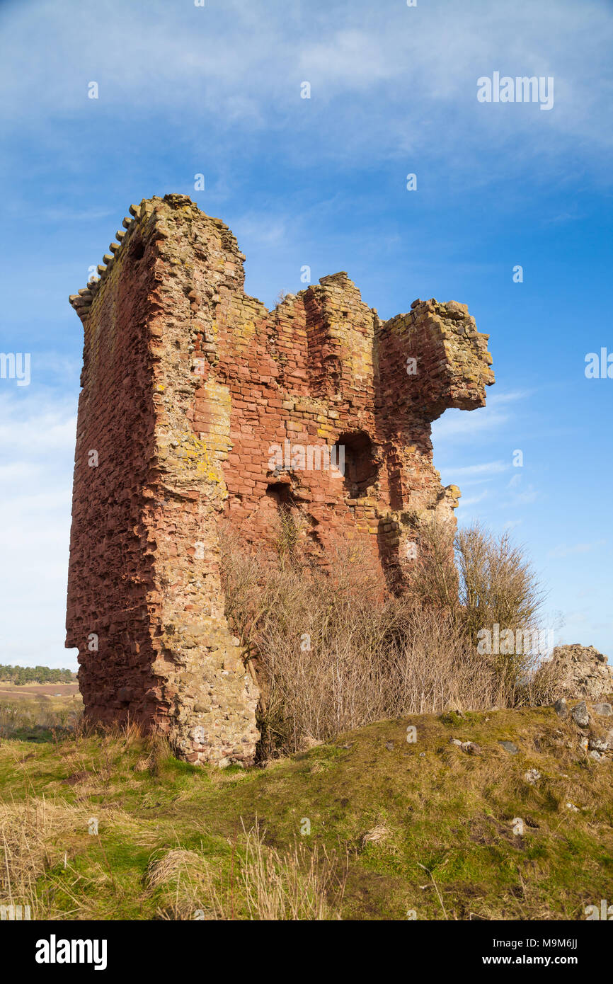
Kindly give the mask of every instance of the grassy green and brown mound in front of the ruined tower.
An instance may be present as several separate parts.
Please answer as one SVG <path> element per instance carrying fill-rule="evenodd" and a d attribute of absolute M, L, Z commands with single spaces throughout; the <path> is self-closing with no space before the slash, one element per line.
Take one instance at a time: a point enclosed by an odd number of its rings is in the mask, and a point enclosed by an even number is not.
<path fill-rule="evenodd" d="M 0 901 L 32 918 L 556 920 L 613 898 L 613 761 L 552 708 L 381 721 L 248 770 L 130 730 L 37 738 L 0 744 Z"/>

